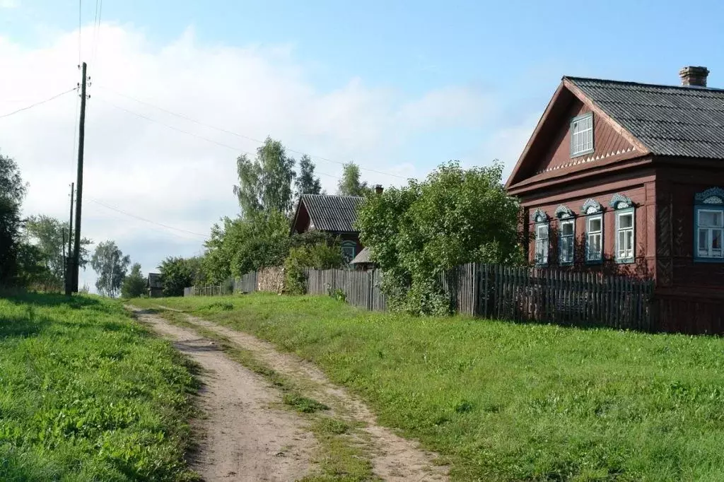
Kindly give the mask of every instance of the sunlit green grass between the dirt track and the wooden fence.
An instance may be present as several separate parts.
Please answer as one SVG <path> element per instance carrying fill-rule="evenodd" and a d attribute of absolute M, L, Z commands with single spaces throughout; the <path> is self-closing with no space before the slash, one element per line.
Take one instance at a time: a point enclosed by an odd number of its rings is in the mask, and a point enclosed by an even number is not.
<path fill-rule="evenodd" d="M 410 318 L 329 297 L 143 300 L 313 360 L 465 481 L 720 481 L 724 340 Z"/>

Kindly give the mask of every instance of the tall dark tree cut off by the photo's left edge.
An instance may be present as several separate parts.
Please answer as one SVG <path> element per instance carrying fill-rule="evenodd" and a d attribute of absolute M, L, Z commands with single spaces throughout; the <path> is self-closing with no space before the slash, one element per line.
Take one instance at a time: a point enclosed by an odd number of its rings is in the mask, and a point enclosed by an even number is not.
<path fill-rule="evenodd" d="M 20 206 L 26 189 L 15 161 L 0 154 L 0 286 L 17 281 Z"/>

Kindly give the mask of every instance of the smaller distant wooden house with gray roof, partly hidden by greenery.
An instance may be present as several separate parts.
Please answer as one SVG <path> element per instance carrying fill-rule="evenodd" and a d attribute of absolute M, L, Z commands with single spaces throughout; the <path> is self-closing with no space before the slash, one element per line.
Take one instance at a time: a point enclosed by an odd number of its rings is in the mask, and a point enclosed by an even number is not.
<path fill-rule="evenodd" d="M 292 218 L 292 234 L 312 230 L 328 232 L 340 238 L 342 254 L 352 261 L 363 248 L 355 228 L 357 208 L 363 200 L 358 196 L 304 194 Z"/>

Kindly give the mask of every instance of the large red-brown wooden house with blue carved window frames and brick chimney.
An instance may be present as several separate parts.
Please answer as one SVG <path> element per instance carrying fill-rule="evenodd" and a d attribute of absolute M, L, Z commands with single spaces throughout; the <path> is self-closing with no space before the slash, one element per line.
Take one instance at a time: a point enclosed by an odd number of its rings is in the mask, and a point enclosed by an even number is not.
<path fill-rule="evenodd" d="M 651 277 L 664 328 L 721 332 L 724 90 L 708 73 L 685 67 L 677 86 L 563 77 L 506 187 L 532 263 Z"/>

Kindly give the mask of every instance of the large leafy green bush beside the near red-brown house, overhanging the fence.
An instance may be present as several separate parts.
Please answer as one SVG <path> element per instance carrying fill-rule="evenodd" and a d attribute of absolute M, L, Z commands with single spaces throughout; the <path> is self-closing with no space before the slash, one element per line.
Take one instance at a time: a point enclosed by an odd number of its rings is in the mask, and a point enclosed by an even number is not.
<path fill-rule="evenodd" d="M 505 193 L 502 165 L 439 166 L 424 182 L 411 180 L 369 196 L 360 208 L 360 240 L 384 271 L 383 289 L 397 310 L 450 310 L 439 275 L 463 263 L 523 263 L 520 208 Z"/>

